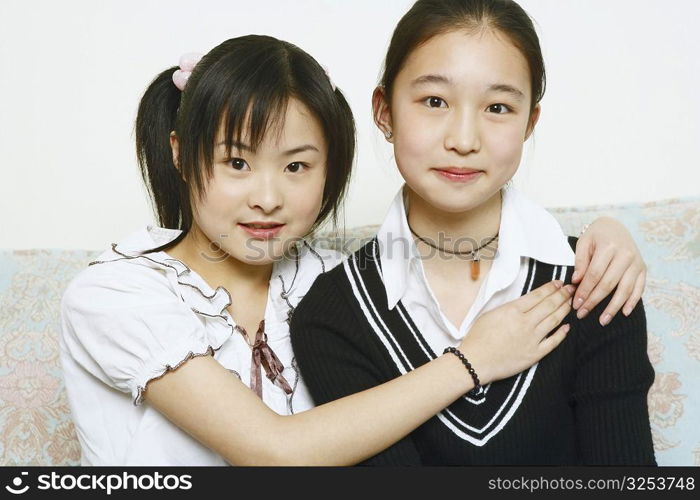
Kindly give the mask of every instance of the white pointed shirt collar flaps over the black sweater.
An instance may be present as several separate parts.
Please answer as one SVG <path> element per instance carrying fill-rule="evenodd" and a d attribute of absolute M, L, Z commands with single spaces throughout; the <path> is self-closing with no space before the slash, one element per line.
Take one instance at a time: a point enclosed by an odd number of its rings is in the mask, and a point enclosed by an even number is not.
<path fill-rule="evenodd" d="M 487 296 L 517 279 L 522 257 L 559 266 L 572 266 L 575 261 L 567 237 L 552 214 L 513 187 L 503 188 L 502 193 L 498 252 L 486 282 Z M 406 293 L 413 261 L 422 265 L 408 227 L 403 187 L 389 207 L 377 240 L 387 303 L 393 309 Z"/>

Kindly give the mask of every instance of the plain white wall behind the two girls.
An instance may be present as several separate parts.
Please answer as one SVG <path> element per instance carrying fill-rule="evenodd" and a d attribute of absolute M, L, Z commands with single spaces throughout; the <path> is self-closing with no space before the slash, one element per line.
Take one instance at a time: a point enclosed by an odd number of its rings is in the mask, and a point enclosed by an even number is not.
<path fill-rule="evenodd" d="M 184 52 L 266 33 L 330 68 L 359 129 L 347 225 L 399 186 L 370 94 L 410 0 L 0 2 L 0 247 L 103 248 L 152 215 L 134 160 L 140 94 Z M 696 0 L 523 0 L 549 85 L 516 177 L 545 206 L 700 194 Z"/>

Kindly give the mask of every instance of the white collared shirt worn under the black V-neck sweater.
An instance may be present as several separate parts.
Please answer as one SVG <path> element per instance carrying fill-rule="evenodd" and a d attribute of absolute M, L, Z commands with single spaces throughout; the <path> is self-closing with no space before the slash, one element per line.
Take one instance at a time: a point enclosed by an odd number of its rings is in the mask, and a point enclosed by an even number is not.
<path fill-rule="evenodd" d="M 556 219 L 512 187 L 503 189 L 499 235 L 488 276 L 457 327 L 442 312 L 425 276 L 408 227 L 403 188 L 394 198 L 377 233 L 387 302 L 393 309 L 402 301 L 433 351 L 457 345 L 480 314 L 520 297 L 528 258 L 559 266 L 574 264 L 574 253 Z"/>

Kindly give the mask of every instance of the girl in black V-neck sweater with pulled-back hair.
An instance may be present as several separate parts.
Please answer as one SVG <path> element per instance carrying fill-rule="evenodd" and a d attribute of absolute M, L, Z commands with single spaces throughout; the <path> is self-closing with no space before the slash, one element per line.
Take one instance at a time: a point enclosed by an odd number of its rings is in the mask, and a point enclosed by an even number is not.
<path fill-rule="evenodd" d="M 500 360 L 445 349 L 495 311 L 517 322 L 509 301 L 552 278 L 571 282 L 575 239 L 507 186 L 544 81 L 532 22 L 511 0 L 419 0 L 394 31 L 373 105 L 406 184 L 376 238 L 316 280 L 292 345 L 319 404 L 443 353 L 471 362 L 479 390 L 369 464 L 654 463 L 641 303 L 610 321 L 611 294 L 595 315 L 572 314 L 561 348 L 482 388 Z"/>

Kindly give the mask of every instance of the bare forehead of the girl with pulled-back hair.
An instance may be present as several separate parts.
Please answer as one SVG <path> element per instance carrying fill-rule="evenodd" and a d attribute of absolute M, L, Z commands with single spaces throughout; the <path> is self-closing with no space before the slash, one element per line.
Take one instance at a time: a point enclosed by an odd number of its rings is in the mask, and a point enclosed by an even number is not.
<path fill-rule="evenodd" d="M 527 60 L 502 33 L 450 31 L 430 38 L 406 59 L 398 79 L 409 82 L 422 75 L 442 75 L 458 86 L 505 83 L 529 95 Z"/>

